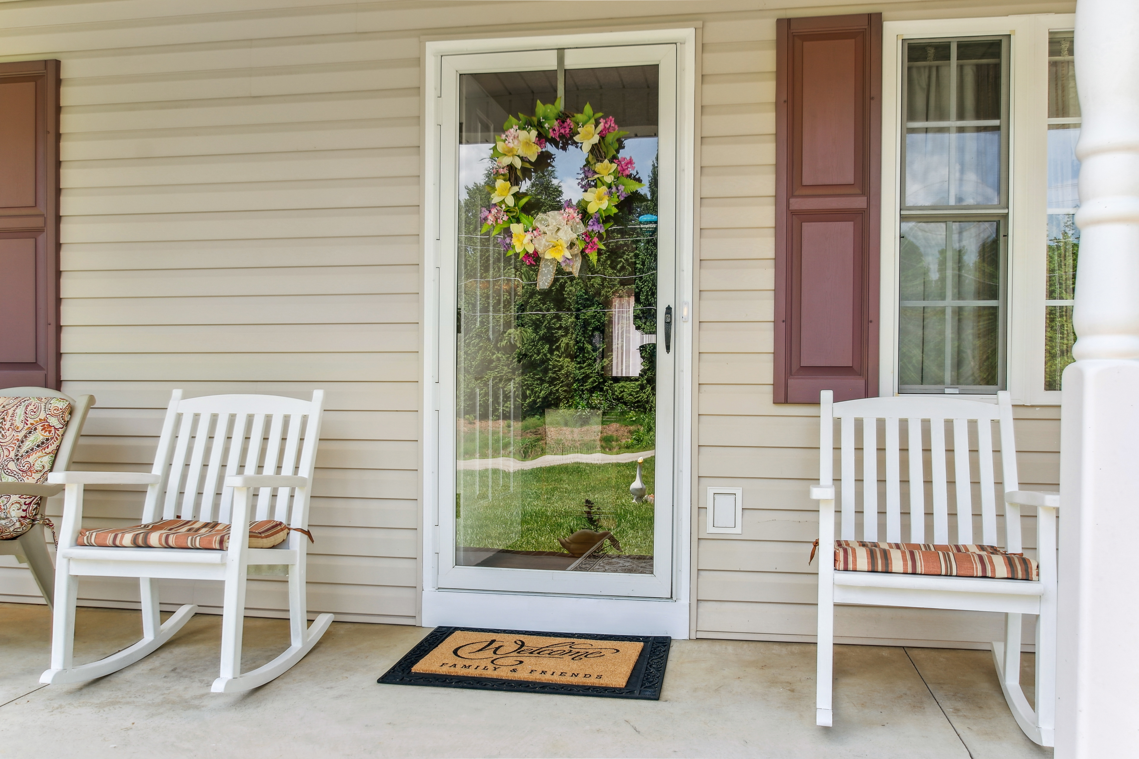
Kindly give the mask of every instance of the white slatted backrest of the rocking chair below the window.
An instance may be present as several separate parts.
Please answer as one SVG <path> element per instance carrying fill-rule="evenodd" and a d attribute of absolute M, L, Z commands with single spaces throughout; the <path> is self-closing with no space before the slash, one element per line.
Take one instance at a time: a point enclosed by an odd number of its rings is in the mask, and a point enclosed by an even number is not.
<path fill-rule="evenodd" d="M 1006 506 L 1005 520 L 999 520 L 997 512 L 993 457 L 1005 451 L 1016 451 L 1008 393 L 999 393 L 997 404 L 957 398 L 863 398 L 830 404 L 829 407 L 823 407 L 822 412 L 823 439 L 834 439 L 835 419 L 839 420 L 841 424 L 842 539 L 870 542 L 882 539 L 879 520 L 883 517 L 885 541 L 900 543 L 904 539 L 901 482 L 902 470 L 906 469 L 909 487 L 910 542 L 925 543 L 927 539 L 925 508 L 926 487 L 929 487 L 933 504 L 933 543 L 950 543 L 951 537 L 956 537 L 952 542 L 1002 545 L 999 522 L 1005 521 L 1003 545 L 1009 551 L 1021 551 L 1019 509 Z M 945 439 L 950 422 L 952 423 L 951 449 L 947 447 Z M 1000 426 L 1000 451 L 993 448 L 993 422 Z M 882 449 L 878 448 L 879 424 L 884 431 Z M 861 451 L 855 448 L 859 426 L 862 428 Z M 970 444 L 970 438 L 975 445 Z M 907 465 L 902 463 L 903 452 L 908 460 Z M 928 482 L 925 480 L 927 455 L 929 456 Z M 949 455 L 952 455 L 953 462 L 951 476 L 947 461 Z M 855 480 L 859 456 L 862 460 L 861 488 Z M 879 456 L 884 459 L 885 470 L 885 481 L 882 485 L 878 480 Z M 1003 489 L 1016 489 L 1018 481 L 1015 454 L 1001 455 L 1001 465 Z M 956 535 L 951 535 L 950 530 L 950 485 L 952 485 L 954 505 L 952 521 L 956 522 L 953 530 Z M 976 500 L 981 506 L 980 536 L 974 531 L 975 487 L 980 496 Z M 879 488 L 883 488 L 885 494 L 885 514 L 879 514 L 878 510 Z M 860 512 L 861 530 L 858 529 Z M 980 541 L 976 537 L 980 537 Z"/>

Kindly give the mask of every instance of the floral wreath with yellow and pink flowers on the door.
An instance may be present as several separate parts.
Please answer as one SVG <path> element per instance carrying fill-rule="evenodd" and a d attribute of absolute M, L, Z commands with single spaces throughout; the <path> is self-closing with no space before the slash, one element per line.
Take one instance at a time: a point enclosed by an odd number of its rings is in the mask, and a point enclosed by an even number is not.
<path fill-rule="evenodd" d="M 629 132 L 620 131 L 612 116 L 600 118 L 603 115 L 593 113 L 589 104 L 582 113 L 570 114 L 562 110 L 560 98 L 546 105 L 539 100 L 534 115 L 518 114 L 506 121 L 505 132 L 491 149 L 495 179 L 494 187 L 486 189 L 494 205 L 482 209 L 482 231 L 491 231 L 508 256 L 518 254 L 528 265 L 540 263 L 539 289 L 550 287 L 559 264 L 574 277 L 583 255 L 597 264 L 597 253 L 605 250 L 606 231 L 613 225 L 606 220 L 645 187 L 633 173 L 633 159 L 620 157 L 624 147 L 621 138 Z M 526 214 L 523 206 L 530 195 L 519 188 L 535 171 L 550 166 L 550 147 L 566 150 L 575 145 L 585 154 L 577 178 L 584 190 L 582 199 L 576 205 L 566 200 L 560 211 Z M 500 236 L 503 230 L 509 234 Z"/>

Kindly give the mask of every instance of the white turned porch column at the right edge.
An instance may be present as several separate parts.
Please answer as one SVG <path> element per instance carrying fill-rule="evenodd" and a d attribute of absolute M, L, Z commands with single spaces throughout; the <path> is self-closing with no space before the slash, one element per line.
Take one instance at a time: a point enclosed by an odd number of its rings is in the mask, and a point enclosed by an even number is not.
<path fill-rule="evenodd" d="M 1075 363 L 1060 440 L 1057 759 L 1139 751 L 1139 2 L 1079 0 Z"/>

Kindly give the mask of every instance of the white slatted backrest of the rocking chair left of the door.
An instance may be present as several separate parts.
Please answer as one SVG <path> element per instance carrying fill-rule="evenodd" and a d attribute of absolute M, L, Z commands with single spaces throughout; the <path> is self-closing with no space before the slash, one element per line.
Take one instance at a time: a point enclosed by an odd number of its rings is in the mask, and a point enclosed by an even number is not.
<path fill-rule="evenodd" d="M 312 401 L 264 395 L 182 399 L 175 394 L 153 470 L 163 479 L 147 493 L 144 521 L 229 523 L 233 493 L 223 486 L 229 476 L 301 475 L 311 479 L 322 401 L 320 390 Z M 308 506 L 306 489 L 257 488 L 253 520 L 278 519 L 306 528 Z"/>

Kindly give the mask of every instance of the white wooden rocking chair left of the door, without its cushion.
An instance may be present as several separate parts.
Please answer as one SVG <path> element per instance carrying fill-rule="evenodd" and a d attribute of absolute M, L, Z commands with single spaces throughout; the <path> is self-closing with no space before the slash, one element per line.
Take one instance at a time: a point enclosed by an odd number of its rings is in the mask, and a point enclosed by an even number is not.
<path fill-rule="evenodd" d="M 161 622 L 158 578 L 226 584 L 221 676 L 213 683 L 214 693 L 263 685 L 300 661 L 333 621 L 333 614 L 323 613 L 309 626 L 305 609 L 309 493 L 322 404 L 322 390 L 313 391 L 311 402 L 268 395 L 214 395 L 183 401 L 182 391 L 174 390 L 151 473 L 52 473 L 50 481 L 65 485 L 66 492 L 57 552 L 58 603 L 52 625 L 51 669 L 43 673 L 40 682 L 80 683 L 103 677 L 169 641 L 197 607 L 186 604 Z M 144 525 L 173 519 L 220 522 L 229 526 L 228 548 L 82 545 L 79 538 L 85 485 L 146 485 Z M 256 489 L 255 502 L 253 489 Z M 249 523 L 260 520 L 284 522 L 290 530 L 288 538 L 274 547 L 248 547 Z M 263 667 L 241 674 L 241 626 L 251 564 L 287 568 L 292 644 Z M 142 640 L 106 659 L 76 666 L 72 661 L 75 602 L 79 578 L 84 576 L 139 578 Z"/>

